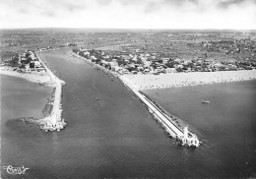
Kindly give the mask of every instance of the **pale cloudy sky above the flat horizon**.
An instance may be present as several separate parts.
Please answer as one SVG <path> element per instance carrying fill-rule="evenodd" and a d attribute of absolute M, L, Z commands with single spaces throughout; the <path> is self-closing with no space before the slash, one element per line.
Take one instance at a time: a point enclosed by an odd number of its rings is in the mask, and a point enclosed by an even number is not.
<path fill-rule="evenodd" d="M 0 29 L 256 30 L 256 0 L 0 0 Z"/>

